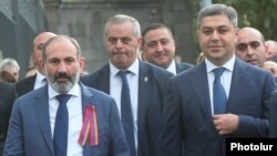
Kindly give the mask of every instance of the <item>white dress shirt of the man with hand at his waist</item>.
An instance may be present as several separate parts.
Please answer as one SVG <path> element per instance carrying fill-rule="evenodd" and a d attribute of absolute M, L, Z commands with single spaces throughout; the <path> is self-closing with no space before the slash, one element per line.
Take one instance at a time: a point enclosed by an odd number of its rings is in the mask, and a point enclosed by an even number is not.
<path fill-rule="evenodd" d="M 235 55 L 226 62 L 225 64 L 222 65 L 222 67 L 225 67 L 226 70 L 223 72 L 220 76 L 220 83 L 225 90 L 227 98 L 229 97 L 229 89 L 230 89 L 230 82 L 232 82 L 232 75 L 233 75 L 233 70 L 235 65 Z M 214 65 L 211 61 L 205 59 L 206 63 L 206 71 L 207 71 L 207 79 L 208 79 L 208 90 L 209 90 L 209 100 L 211 100 L 211 106 L 212 106 L 212 114 L 214 114 L 214 102 L 213 102 L 213 84 L 215 80 L 215 74 L 213 72 L 214 69 L 220 67 Z"/>

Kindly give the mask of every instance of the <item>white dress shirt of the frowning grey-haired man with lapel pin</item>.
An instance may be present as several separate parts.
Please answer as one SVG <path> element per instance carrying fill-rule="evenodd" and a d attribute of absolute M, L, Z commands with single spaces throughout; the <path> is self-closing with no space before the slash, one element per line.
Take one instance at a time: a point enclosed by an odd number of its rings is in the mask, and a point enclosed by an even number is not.
<path fill-rule="evenodd" d="M 138 97 L 138 66 L 140 62 L 136 59 L 135 62 L 127 69 L 131 73 L 127 74 L 127 83 L 130 87 L 130 96 L 132 104 L 132 113 L 134 119 L 134 135 L 135 135 L 135 148 L 137 150 L 137 97 Z M 110 63 L 110 95 L 115 98 L 116 105 L 121 114 L 121 89 L 122 80 L 117 75 L 120 71 L 112 63 Z"/>

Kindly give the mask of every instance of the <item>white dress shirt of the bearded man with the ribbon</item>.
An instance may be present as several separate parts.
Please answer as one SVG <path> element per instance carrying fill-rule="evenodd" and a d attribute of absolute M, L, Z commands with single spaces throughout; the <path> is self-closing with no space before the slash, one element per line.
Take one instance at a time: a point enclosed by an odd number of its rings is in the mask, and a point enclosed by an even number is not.
<path fill-rule="evenodd" d="M 48 89 L 50 125 L 53 137 L 55 115 L 59 107 L 59 101 L 55 98 L 55 96 L 60 93 L 54 91 L 50 85 L 48 85 Z M 68 156 L 82 156 L 83 147 L 78 143 L 83 122 L 80 85 L 75 84 L 68 94 L 72 95 L 66 103 L 69 111 Z"/>

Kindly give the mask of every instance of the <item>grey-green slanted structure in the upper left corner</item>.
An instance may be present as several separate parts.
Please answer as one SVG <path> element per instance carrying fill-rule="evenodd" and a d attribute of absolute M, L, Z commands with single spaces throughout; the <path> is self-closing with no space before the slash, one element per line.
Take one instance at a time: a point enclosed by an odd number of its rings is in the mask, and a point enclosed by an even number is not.
<path fill-rule="evenodd" d="M 40 0 L 0 0 L 0 52 L 20 64 L 22 76 L 28 69 L 34 35 L 47 29 Z"/>

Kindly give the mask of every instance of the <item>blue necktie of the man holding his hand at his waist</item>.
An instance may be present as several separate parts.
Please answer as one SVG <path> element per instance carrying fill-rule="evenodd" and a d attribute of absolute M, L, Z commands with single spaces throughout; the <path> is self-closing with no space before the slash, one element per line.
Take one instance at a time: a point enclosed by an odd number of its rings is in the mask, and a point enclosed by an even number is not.
<path fill-rule="evenodd" d="M 220 76 L 223 72 L 225 71 L 224 67 L 218 67 L 213 70 L 215 74 L 214 80 L 214 114 L 223 114 L 225 113 L 226 103 L 227 103 L 227 96 L 226 92 L 220 83 Z"/>

